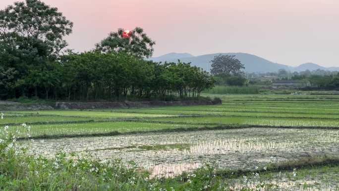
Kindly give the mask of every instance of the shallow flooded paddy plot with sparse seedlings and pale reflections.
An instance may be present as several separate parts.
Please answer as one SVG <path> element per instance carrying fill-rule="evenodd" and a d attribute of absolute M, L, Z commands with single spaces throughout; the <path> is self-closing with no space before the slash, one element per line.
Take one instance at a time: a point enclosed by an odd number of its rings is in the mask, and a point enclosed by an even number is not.
<path fill-rule="evenodd" d="M 46 156 L 62 150 L 134 161 L 153 176 L 171 176 L 205 163 L 219 168 L 253 169 L 304 156 L 339 154 L 339 131 L 243 128 L 37 139 L 31 149 Z"/>

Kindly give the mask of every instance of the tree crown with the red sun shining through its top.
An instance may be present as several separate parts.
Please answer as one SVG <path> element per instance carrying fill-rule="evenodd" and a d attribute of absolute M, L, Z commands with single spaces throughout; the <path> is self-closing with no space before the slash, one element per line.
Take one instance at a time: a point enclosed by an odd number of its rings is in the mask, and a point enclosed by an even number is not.
<path fill-rule="evenodd" d="M 123 32 L 122 28 L 111 32 L 107 38 L 96 44 L 97 50 L 104 53 L 125 52 L 138 58 L 150 58 L 153 55 L 155 41 L 152 41 L 142 28 L 133 29 L 129 38 L 123 37 Z"/>

